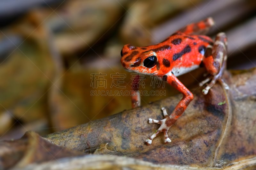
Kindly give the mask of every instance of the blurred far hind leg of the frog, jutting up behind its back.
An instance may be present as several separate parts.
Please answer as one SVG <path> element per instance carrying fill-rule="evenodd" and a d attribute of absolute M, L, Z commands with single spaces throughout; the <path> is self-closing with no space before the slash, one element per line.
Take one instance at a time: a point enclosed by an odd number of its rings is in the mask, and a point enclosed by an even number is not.
<path fill-rule="evenodd" d="M 208 32 L 210 27 L 213 25 L 214 25 L 214 21 L 211 17 L 209 17 L 197 23 L 191 23 L 181 28 L 180 30 L 176 31 L 176 33 L 204 35 Z"/>

